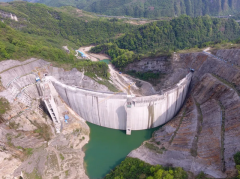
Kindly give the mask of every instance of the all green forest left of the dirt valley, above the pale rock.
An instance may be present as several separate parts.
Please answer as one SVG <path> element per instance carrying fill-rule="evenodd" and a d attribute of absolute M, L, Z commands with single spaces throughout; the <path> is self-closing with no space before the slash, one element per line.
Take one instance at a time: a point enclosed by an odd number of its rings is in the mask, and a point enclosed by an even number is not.
<path fill-rule="evenodd" d="M 51 8 L 43 4 L 12 2 L 1 6 L 0 11 L 10 12 L 18 22 L 0 15 L 0 60 L 43 58 L 58 64 L 68 64 L 91 77 L 108 78 L 108 66 L 103 62 L 76 60 L 74 49 L 92 43 L 108 42 L 119 33 L 135 26 L 92 16 L 75 17 L 69 12 L 75 8 Z M 72 49 L 67 54 L 62 46 Z"/>

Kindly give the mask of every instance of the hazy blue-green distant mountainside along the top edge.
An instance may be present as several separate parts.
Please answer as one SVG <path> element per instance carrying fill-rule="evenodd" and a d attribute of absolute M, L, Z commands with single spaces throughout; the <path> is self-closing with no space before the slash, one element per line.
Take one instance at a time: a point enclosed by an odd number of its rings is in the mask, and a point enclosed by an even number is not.
<path fill-rule="evenodd" d="M 32 0 L 28 0 L 32 1 Z M 75 6 L 107 15 L 155 18 L 160 16 L 229 15 L 240 10 L 239 0 L 34 0 L 49 6 Z"/>

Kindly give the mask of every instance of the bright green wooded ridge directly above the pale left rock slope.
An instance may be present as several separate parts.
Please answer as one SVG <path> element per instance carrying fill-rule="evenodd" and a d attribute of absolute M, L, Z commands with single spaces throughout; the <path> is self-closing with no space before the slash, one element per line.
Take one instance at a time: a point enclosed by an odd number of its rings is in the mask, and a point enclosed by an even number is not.
<path fill-rule="evenodd" d="M 108 78 L 108 66 L 104 62 L 76 60 L 73 53 L 61 49 L 61 41 L 52 38 L 29 35 L 7 26 L 0 21 L 0 61 L 6 59 L 43 58 L 58 65 L 67 64 L 70 68 Z M 93 75 L 94 74 L 94 75 Z"/>

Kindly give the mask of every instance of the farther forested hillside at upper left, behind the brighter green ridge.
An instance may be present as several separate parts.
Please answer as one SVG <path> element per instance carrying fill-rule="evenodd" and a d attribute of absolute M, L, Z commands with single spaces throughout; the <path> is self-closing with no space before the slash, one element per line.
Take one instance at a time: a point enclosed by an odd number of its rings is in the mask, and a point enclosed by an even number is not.
<path fill-rule="evenodd" d="M 76 17 L 65 12 L 72 9 L 51 8 L 43 4 L 13 2 L 0 5 L 0 10 L 11 12 L 18 17 L 19 22 L 5 19 L 7 24 L 16 29 L 29 34 L 62 37 L 77 46 L 104 42 L 134 28 L 130 24 L 103 18 Z"/>

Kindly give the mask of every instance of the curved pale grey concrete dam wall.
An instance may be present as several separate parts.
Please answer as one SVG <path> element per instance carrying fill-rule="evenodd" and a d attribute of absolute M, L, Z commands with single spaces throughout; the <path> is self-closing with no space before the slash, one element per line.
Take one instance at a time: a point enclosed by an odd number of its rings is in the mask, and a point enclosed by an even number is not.
<path fill-rule="evenodd" d="M 80 89 L 65 85 L 53 77 L 55 89 L 61 98 L 86 121 L 120 130 L 144 130 L 171 120 L 182 106 L 192 73 L 162 95 L 132 97 Z"/>

